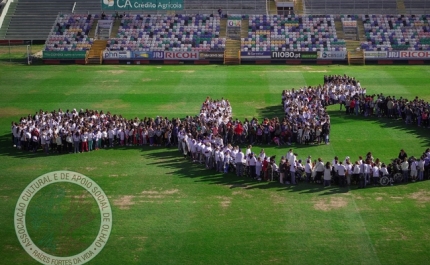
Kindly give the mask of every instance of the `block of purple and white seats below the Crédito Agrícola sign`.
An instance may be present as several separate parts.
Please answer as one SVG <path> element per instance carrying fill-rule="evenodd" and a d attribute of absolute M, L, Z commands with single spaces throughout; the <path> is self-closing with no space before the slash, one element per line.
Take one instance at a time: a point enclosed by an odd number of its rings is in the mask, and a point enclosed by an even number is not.
<path fill-rule="evenodd" d="M 224 50 L 220 18 L 214 15 L 125 15 L 110 50 L 216 51 Z"/>

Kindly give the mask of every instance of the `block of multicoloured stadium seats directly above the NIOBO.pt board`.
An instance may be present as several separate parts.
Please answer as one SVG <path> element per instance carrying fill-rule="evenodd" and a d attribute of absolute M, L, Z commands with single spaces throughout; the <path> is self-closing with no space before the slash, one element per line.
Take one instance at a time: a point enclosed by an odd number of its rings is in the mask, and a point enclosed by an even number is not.
<path fill-rule="evenodd" d="M 252 15 L 241 51 L 346 51 L 333 15 Z"/>

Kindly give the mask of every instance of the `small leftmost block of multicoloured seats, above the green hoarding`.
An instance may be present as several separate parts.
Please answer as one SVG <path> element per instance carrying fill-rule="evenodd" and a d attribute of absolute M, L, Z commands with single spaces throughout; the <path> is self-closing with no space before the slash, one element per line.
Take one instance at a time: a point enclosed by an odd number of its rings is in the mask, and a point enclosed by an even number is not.
<path fill-rule="evenodd" d="M 46 51 L 85 51 L 93 39 L 88 33 L 98 15 L 60 14 L 46 41 Z"/>

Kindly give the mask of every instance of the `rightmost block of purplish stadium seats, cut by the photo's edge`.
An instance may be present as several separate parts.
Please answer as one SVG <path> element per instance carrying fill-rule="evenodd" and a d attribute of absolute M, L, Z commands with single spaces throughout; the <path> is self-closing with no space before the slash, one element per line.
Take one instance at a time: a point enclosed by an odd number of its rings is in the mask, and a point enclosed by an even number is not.
<path fill-rule="evenodd" d="M 430 15 L 364 15 L 367 51 L 430 50 Z"/>

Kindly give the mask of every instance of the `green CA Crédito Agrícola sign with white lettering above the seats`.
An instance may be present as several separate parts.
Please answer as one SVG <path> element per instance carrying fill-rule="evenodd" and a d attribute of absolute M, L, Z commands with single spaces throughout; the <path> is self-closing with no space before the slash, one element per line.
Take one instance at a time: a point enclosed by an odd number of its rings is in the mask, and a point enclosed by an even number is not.
<path fill-rule="evenodd" d="M 183 10 L 184 0 L 101 0 L 103 10 Z"/>

